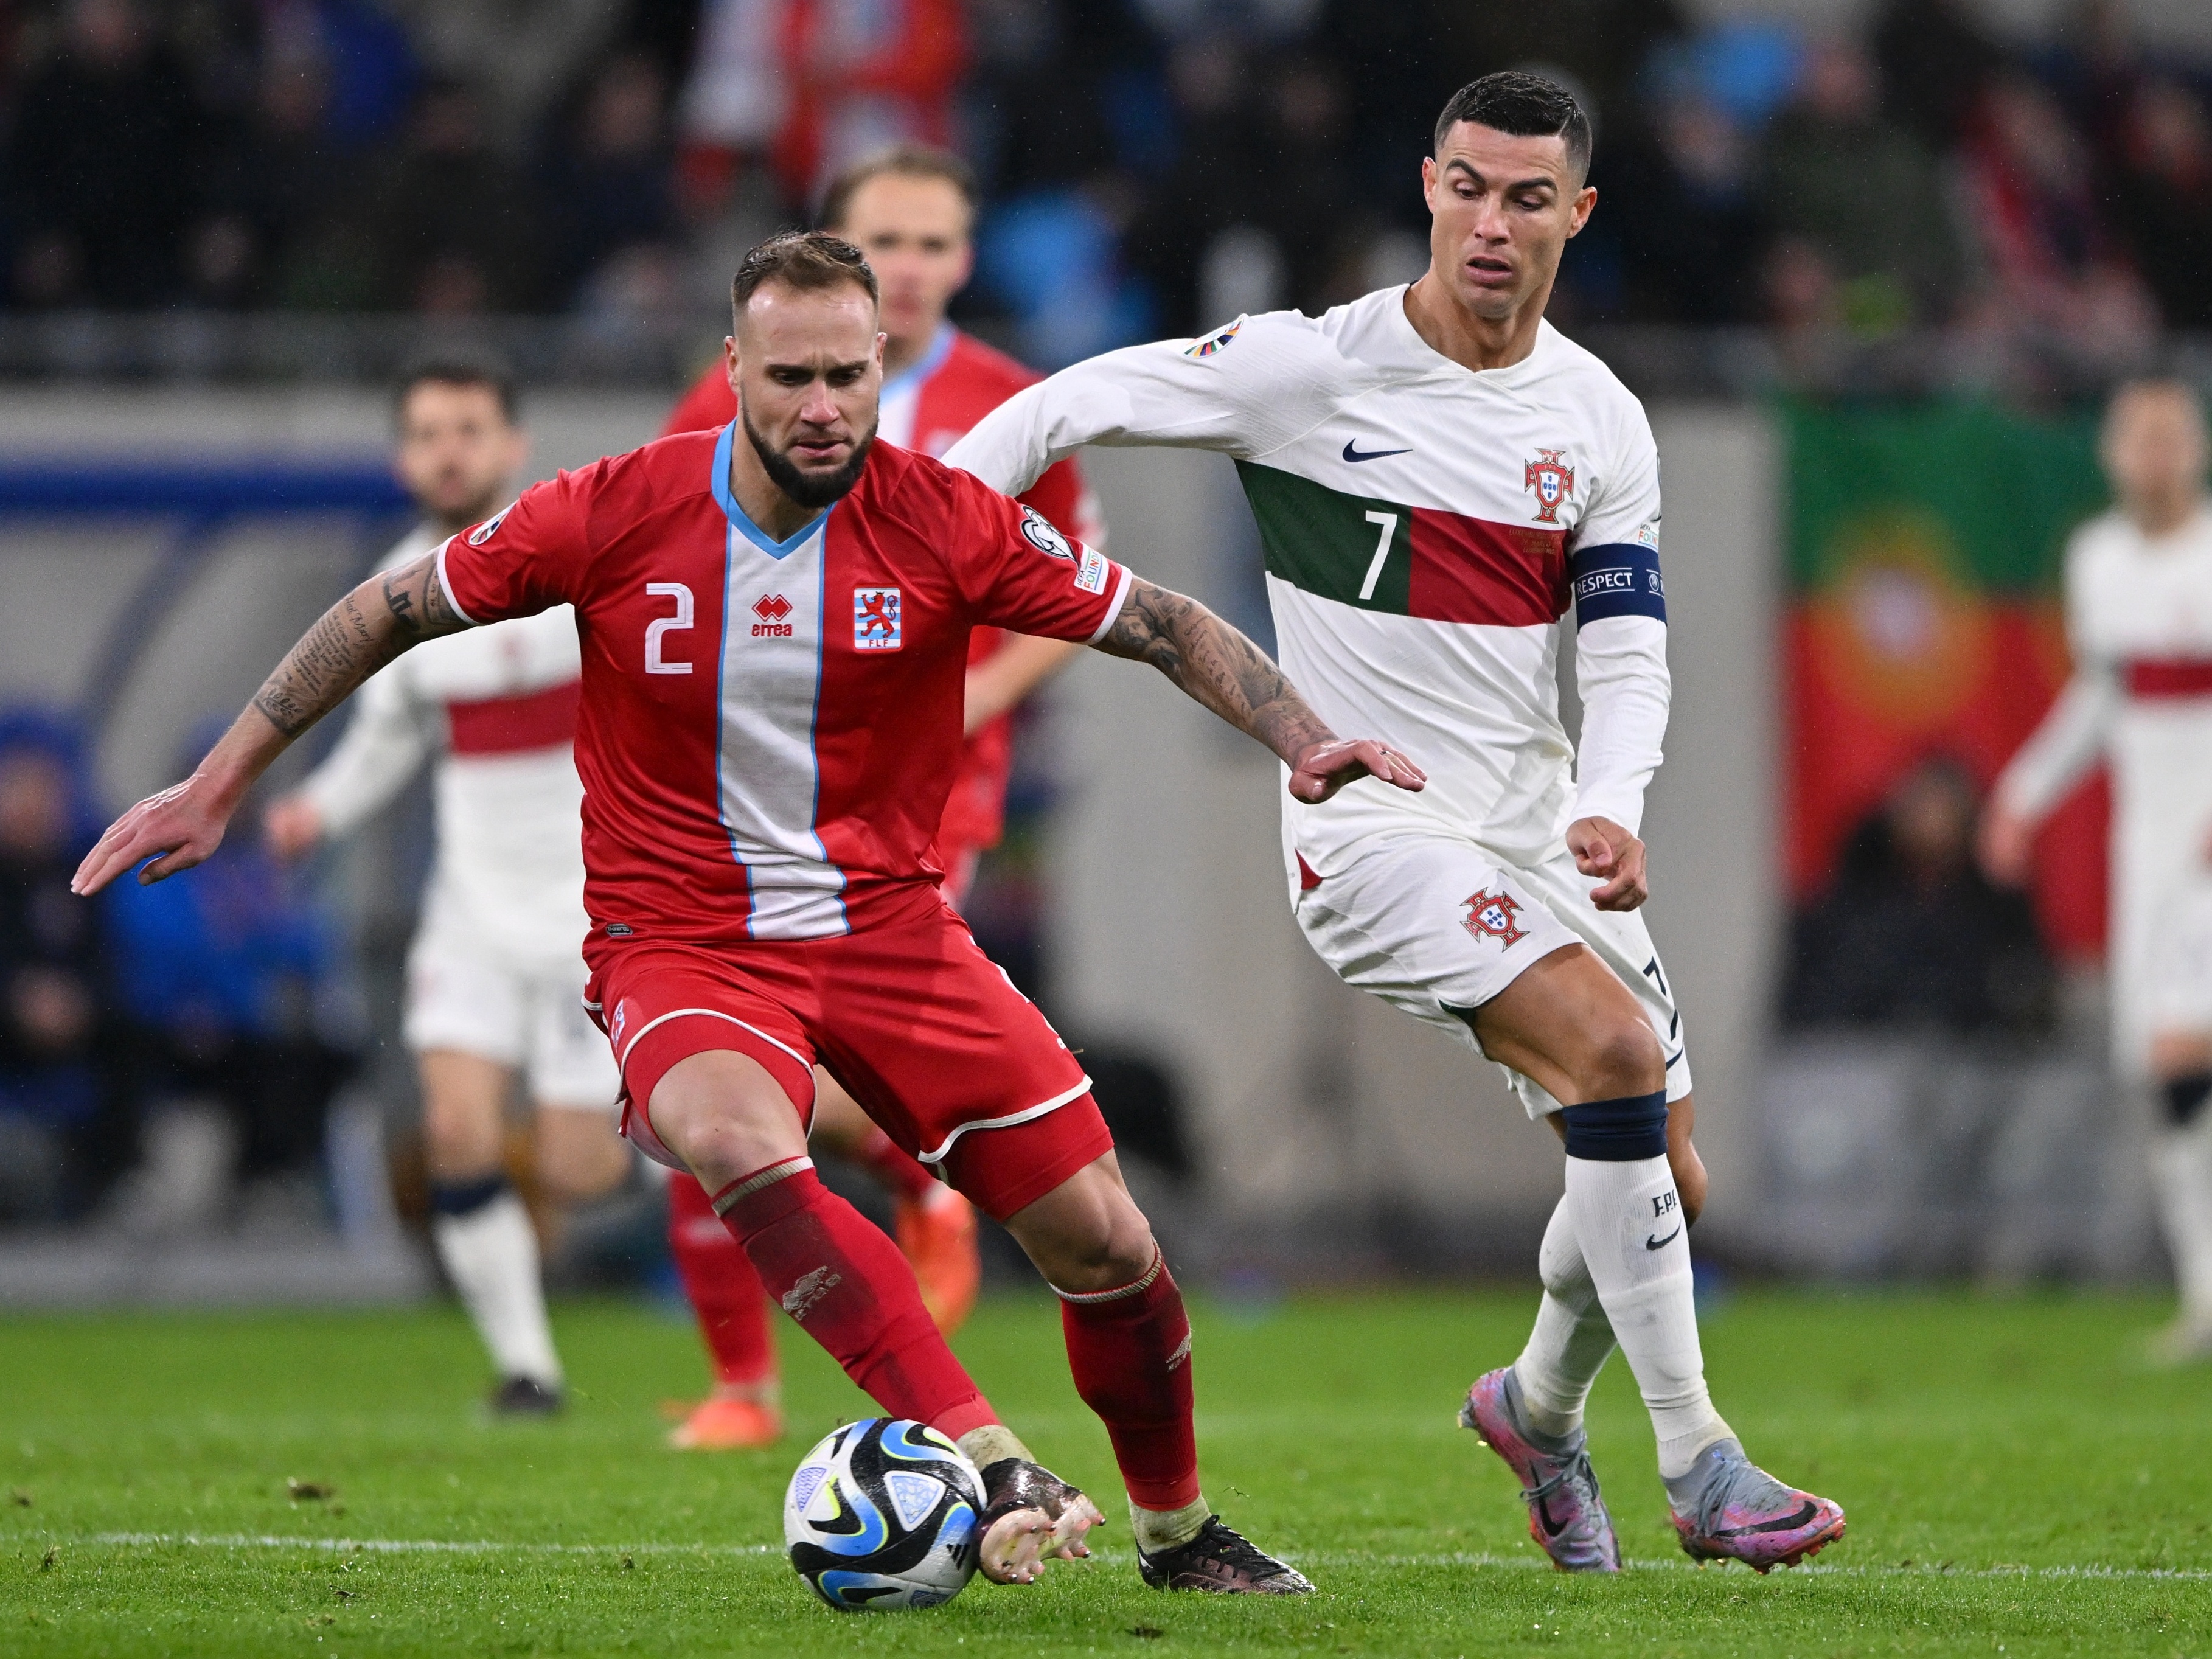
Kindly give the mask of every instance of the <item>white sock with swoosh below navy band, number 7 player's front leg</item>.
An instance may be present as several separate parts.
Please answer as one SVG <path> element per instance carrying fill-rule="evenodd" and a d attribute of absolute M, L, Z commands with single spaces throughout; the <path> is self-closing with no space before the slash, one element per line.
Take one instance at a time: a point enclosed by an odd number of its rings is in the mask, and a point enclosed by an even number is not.
<path fill-rule="evenodd" d="M 1613 1336 L 1637 1374 L 1659 1436 L 1659 1475 L 1686 1475 L 1732 1431 L 1705 1391 L 1690 1294 L 1690 1228 L 1666 1157 L 1566 1161 L 1568 1219 Z"/>

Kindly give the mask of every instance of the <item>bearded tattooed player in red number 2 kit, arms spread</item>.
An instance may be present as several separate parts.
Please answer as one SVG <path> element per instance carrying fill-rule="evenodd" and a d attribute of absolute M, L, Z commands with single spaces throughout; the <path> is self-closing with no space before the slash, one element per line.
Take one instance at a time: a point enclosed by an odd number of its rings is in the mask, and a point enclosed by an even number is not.
<path fill-rule="evenodd" d="M 821 1060 L 1060 1294 L 1146 1584 L 1307 1590 L 1206 1504 L 1181 1292 L 1082 1066 L 945 905 L 929 847 L 973 626 L 1150 661 L 1267 743 L 1298 799 L 1425 779 L 1383 743 L 1338 741 L 1203 606 L 967 473 L 878 445 L 883 336 L 856 248 L 823 232 L 761 243 L 732 310 L 737 420 L 535 484 L 363 582 L 190 779 L 108 827 L 75 889 L 208 858 L 283 748 L 420 639 L 573 604 L 584 960 L 624 1133 L 699 1177 L 768 1294 L 860 1389 L 960 1442 L 982 1469 L 982 1571 L 1029 1582 L 1084 1553 L 1102 1515 L 998 1420 L 905 1259 L 814 1175 Z"/>

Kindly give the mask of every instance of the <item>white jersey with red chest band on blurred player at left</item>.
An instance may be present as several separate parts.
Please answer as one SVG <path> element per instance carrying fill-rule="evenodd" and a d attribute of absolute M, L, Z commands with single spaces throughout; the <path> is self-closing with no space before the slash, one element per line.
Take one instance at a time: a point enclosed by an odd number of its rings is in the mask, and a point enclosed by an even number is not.
<path fill-rule="evenodd" d="M 407 535 L 383 568 L 438 546 Z M 425 918 L 529 971 L 582 960 L 582 653 L 568 606 L 429 639 L 354 695 L 338 745 L 301 785 L 345 834 L 438 757 L 438 865 Z"/>

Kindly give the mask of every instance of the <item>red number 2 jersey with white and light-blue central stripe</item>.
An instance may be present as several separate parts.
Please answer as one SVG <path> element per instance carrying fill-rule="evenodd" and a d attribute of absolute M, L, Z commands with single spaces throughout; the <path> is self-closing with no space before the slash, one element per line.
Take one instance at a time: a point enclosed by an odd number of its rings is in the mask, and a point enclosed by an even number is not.
<path fill-rule="evenodd" d="M 880 442 L 783 542 L 730 495 L 737 425 L 535 484 L 438 549 L 469 622 L 573 604 L 586 953 L 799 940 L 936 905 L 969 630 L 1093 641 L 1128 573 Z"/>

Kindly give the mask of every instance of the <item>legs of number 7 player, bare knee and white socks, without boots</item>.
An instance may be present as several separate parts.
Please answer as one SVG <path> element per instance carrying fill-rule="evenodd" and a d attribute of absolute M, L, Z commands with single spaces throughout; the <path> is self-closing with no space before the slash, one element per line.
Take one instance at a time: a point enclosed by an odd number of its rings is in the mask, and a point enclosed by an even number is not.
<path fill-rule="evenodd" d="M 1659 1040 L 1628 987 L 1582 945 L 1526 969 L 1475 1011 L 1473 1029 L 1486 1055 L 1568 1102 L 1559 1126 L 1568 1144 L 1566 1197 L 1546 1232 L 1546 1307 L 1531 1343 L 1537 1356 L 1526 1374 L 1515 1363 L 1515 1374 L 1524 1391 L 1540 1396 L 1551 1422 L 1571 1418 L 1577 1391 L 1588 1391 L 1579 1374 L 1595 1376 L 1593 1356 L 1604 1363 L 1601 1338 L 1588 1329 L 1593 1314 L 1601 1316 L 1644 1391 L 1659 1436 L 1659 1473 L 1683 1475 L 1730 1429 L 1705 1391 L 1688 1212 L 1674 1175 L 1677 1161 L 1694 1172 L 1701 1201 L 1703 1166 L 1690 1148 L 1688 1113 L 1679 1135 L 1670 1115 L 1659 1115 L 1666 1091 Z M 1628 1128 L 1639 1119 L 1663 1128 L 1639 1135 Z M 1670 1157 L 1677 1141 L 1679 1159 Z"/>

